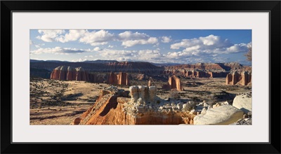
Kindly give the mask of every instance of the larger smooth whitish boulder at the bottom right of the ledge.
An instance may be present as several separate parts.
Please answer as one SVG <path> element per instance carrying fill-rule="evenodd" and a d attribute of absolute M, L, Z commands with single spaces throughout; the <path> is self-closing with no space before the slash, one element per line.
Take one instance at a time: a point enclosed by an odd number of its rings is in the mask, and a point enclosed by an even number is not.
<path fill-rule="evenodd" d="M 243 111 L 231 105 L 208 109 L 206 114 L 195 116 L 194 125 L 229 125 L 243 118 Z"/>

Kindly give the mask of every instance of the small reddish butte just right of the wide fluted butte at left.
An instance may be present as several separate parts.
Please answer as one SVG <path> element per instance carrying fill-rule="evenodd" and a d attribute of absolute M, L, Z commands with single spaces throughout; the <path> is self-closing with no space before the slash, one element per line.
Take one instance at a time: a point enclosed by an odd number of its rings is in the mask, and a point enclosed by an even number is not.
<path fill-rule="evenodd" d="M 107 83 L 112 85 L 130 85 L 128 74 L 124 72 L 119 72 L 118 74 L 110 72 Z"/>

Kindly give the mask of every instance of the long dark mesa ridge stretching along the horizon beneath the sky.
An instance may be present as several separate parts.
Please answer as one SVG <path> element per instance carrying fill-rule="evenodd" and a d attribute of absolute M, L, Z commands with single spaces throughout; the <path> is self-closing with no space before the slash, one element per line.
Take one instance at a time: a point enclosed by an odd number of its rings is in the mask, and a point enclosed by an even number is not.
<path fill-rule="evenodd" d="M 110 72 L 126 72 L 130 73 L 129 78 L 134 80 L 148 80 L 150 76 L 162 76 L 168 78 L 168 76 L 181 76 L 183 78 L 226 78 L 228 73 L 235 70 L 250 71 L 251 66 L 243 66 L 237 62 L 230 63 L 197 63 L 197 64 L 177 64 L 174 66 L 170 65 L 159 65 L 155 66 L 150 62 L 117 62 L 115 60 L 96 60 L 96 61 L 86 61 L 86 62 L 60 62 L 60 61 L 38 61 L 30 60 L 30 74 L 31 76 L 41 76 L 46 78 L 46 73 L 41 73 L 41 70 L 45 70 L 50 76 L 53 68 L 57 68 L 56 72 L 53 72 L 53 79 L 60 80 L 89 80 L 90 82 L 103 83 L 107 82 L 109 74 L 101 77 L 97 74 L 93 75 L 90 72 L 99 73 L 110 73 Z M 67 67 L 70 66 L 70 74 L 67 76 Z M 64 68 L 65 67 L 65 68 Z M 86 75 L 83 77 L 83 73 L 79 73 L 78 78 L 72 76 L 72 72 L 76 74 L 73 70 L 77 68 L 83 68 L 85 73 L 88 73 L 88 78 Z M 58 70 L 60 69 L 60 70 Z M 60 71 L 62 74 L 60 74 Z M 81 70 L 82 71 L 82 70 Z M 138 73 L 138 76 L 136 76 Z M 241 73 L 241 71 L 238 71 Z M 74 77 L 75 76 L 75 77 Z M 103 78 L 103 80 L 102 80 Z M 163 78 L 163 79 L 164 79 Z"/>

